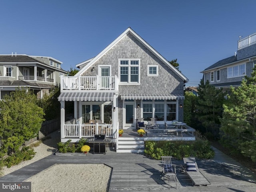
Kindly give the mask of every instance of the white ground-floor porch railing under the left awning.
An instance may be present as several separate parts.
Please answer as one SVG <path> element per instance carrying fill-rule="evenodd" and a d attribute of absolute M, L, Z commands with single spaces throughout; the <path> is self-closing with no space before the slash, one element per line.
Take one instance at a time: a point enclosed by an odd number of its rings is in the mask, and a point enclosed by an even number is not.
<path fill-rule="evenodd" d="M 65 137 L 94 137 L 94 135 L 104 134 L 106 137 L 113 136 L 112 124 L 65 124 Z"/>

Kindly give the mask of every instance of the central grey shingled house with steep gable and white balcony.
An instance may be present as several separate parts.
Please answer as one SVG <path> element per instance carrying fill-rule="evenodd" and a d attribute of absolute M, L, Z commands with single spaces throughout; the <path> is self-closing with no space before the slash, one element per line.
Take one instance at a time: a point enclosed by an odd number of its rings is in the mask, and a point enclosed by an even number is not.
<path fill-rule="evenodd" d="M 77 67 L 81 70 L 75 76 L 62 78 L 62 142 L 96 134 L 87 129 L 92 121 L 105 123 L 101 128 L 109 129 L 109 135 L 117 128 L 135 128 L 137 118 L 156 118 L 162 124 L 183 121 L 183 87 L 188 79 L 131 28 Z M 74 102 L 79 127 L 65 123 L 66 101 Z"/>

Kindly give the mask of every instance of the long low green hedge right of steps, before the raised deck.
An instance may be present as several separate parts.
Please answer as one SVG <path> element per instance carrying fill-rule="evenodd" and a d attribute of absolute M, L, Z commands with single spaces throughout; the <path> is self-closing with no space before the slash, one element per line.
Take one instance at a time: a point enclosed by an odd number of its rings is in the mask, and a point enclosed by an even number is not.
<path fill-rule="evenodd" d="M 196 141 L 145 141 L 144 153 L 154 159 L 172 156 L 179 160 L 190 156 L 209 159 L 215 155 L 210 142 L 200 138 Z"/>

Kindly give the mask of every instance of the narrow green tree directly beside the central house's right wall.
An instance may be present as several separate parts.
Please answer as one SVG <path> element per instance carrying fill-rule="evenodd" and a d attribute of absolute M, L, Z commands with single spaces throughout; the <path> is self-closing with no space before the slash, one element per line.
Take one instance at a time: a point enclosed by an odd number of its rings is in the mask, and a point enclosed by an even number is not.
<path fill-rule="evenodd" d="M 197 96 L 189 91 L 186 91 L 184 96 L 184 122 L 194 127 Z"/>

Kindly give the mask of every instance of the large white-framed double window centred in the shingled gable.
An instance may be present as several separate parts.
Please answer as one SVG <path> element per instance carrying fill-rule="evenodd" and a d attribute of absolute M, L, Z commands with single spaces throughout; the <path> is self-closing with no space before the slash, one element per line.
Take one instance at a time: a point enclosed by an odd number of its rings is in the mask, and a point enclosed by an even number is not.
<path fill-rule="evenodd" d="M 119 60 L 120 82 L 121 83 L 139 83 L 140 60 Z"/>

